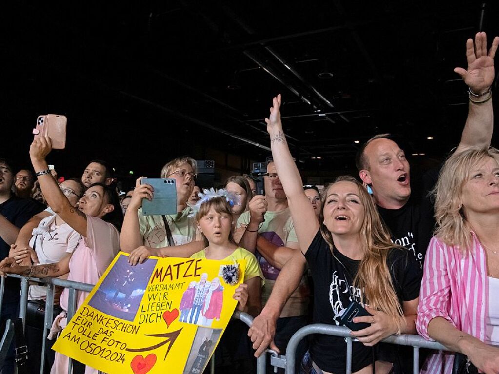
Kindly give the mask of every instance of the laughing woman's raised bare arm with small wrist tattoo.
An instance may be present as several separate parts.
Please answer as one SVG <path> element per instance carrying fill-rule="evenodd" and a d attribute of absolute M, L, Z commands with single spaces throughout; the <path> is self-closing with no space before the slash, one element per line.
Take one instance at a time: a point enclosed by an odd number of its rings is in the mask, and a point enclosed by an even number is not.
<path fill-rule="evenodd" d="M 291 157 L 286 137 L 282 131 L 280 104 L 281 95 L 279 94 L 273 98 L 270 116 L 265 118 L 265 122 L 270 135 L 273 162 L 287 196 L 298 243 L 300 243 L 301 251 L 305 253 L 319 229 L 319 222 L 312 204 L 303 192 L 300 173 Z"/>

